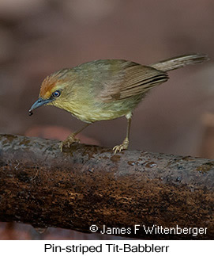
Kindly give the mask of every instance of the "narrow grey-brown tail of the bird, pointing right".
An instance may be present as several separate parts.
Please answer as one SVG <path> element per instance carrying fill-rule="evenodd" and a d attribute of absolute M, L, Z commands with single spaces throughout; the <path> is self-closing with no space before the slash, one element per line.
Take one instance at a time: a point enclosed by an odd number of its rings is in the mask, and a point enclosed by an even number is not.
<path fill-rule="evenodd" d="M 208 60 L 208 55 L 193 53 L 190 55 L 182 55 L 171 59 L 164 59 L 159 63 L 149 65 L 159 71 L 173 71 L 176 68 L 185 67 L 190 64 L 203 63 Z"/>

